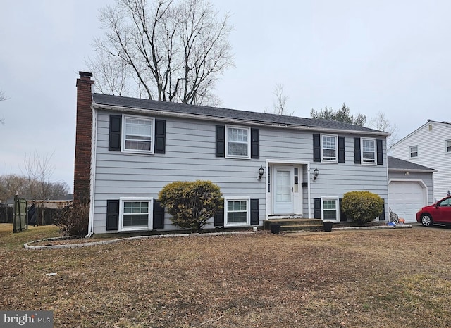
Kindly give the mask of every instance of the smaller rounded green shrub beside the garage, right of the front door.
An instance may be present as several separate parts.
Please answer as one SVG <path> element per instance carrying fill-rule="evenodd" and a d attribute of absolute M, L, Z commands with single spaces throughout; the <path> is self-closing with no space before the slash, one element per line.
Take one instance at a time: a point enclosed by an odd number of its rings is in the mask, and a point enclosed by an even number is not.
<path fill-rule="evenodd" d="M 381 215 L 383 199 L 369 191 L 350 191 L 342 199 L 342 211 L 346 217 L 364 225 Z"/>

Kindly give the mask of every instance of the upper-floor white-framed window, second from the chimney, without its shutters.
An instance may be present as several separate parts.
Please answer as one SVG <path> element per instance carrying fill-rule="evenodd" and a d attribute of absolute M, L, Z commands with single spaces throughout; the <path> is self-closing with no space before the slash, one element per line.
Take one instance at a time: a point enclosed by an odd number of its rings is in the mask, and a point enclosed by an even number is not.
<path fill-rule="evenodd" d="M 249 136 L 249 127 L 227 127 L 226 157 L 250 158 Z"/>

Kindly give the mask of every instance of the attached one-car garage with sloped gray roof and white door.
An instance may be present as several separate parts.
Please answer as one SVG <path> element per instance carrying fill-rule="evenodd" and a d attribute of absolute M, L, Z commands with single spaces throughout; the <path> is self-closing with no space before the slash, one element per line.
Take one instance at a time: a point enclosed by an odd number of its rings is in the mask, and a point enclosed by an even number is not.
<path fill-rule="evenodd" d="M 433 172 L 436 171 L 388 156 L 388 206 L 406 223 L 416 222 L 416 212 L 433 203 Z"/>

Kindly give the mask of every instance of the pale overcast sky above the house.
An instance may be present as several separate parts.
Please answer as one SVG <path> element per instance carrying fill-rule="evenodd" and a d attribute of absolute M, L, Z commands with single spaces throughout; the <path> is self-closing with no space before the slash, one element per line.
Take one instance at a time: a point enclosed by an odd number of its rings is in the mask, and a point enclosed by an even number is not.
<path fill-rule="evenodd" d="M 52 179 L 73 186 L 75 80 L 113 0 L 6 0 L 0 10 L 0 175 L 25 155 L 52 156 Z M 231 14 L 235 68 L 217 84 L 222 107 L 271 109 L 283 84 L 294 115 L 378 111 L 404 137 L 450 121 L 451 1 L 215 0 Z M 447 113 L 447 114 L 445 114 Z"/>

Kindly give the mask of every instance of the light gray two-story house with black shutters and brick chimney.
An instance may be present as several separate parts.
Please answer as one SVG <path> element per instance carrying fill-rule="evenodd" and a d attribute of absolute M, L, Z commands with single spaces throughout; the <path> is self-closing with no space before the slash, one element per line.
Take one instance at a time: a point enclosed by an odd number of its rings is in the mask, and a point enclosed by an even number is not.
<path fill-rule="evenodd" d="M 371 191 L 388 217 L 386 132 L 342 122 L 92 94 L 77 80 L 74 202 L 90 201 L 89 234 L 173 230 L 158 194 L 206 179 L 224 208 L 206 228 L 281 216 L 340 222 L 347 191 Z"/>

